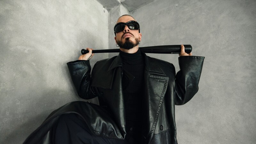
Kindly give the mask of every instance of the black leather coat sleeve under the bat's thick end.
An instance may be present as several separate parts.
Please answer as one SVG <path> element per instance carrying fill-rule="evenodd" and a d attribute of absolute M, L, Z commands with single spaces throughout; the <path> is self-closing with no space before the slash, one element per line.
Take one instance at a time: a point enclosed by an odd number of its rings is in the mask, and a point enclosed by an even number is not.
<path fill-rule="evenodd" d="M 179 57 L 180 71 L 177 72 L 175 79 L 175 105 L 187 103 L 198 91 L 203 62 L 204 57 Z"/>

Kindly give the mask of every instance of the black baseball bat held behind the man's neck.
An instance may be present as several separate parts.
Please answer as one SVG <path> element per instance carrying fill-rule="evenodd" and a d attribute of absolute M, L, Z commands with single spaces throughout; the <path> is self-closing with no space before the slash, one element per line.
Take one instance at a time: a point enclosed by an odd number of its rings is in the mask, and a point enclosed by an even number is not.
<path fill-rule="evenodd" d="M 192 51 L 192 46 L 189 44 L 184 44 L 185 52 L 190 53 Z M 179 54 L 180 45 L 159 45 L 159 46 L 146 46 L 140 47 L 141 52 L 145 53 L 166 53 L 166 54 Z M 82 49 L 81 53 L 86 54 L 89 51 Z M 92 53 L 106 53 L 106 52 L 120 52 L 120 49 L 106 49 L 106 50 L 92 50 Z"/>

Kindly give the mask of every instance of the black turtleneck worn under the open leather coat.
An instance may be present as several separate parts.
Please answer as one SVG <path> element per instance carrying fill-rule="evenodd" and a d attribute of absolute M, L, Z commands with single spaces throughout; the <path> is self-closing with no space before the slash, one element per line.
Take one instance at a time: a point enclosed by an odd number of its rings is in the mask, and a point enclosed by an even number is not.
<path fill-rule="evenodd" d="M 141 133 L 141 98 L 143 96 L 145 62 L 140 50 L 132 54 L 120 52 L 120 56 L 123 61 L 122 67 L 124 71 L 134 76 L 132 82 L 124 88 L 124 105 L 127 131 L 136 140 Z M 127 85 L 127 81 L 127 79 L 123 78 L 123 87 Z"/>

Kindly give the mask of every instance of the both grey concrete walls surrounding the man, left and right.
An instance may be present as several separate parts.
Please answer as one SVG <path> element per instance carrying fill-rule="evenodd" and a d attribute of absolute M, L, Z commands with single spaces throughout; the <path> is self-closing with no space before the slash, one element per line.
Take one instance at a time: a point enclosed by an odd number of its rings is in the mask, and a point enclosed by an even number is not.
<path fill-rule="evenodd" d="M 205 57 L 198 93 L 176 106 L 180 144 L 256 142 L 255 1 L 150 0 L 131 12 L 128 0 L 108 1 L 0 1 L 0 143 L 22 143 L 54 109 L 82 100 L 66 62 L 82 48 L 115 48 L 122 14 L 140 23 L 140 46 L 191 44 Z M 179 70 L 178 55 L 148 55 Z"/>

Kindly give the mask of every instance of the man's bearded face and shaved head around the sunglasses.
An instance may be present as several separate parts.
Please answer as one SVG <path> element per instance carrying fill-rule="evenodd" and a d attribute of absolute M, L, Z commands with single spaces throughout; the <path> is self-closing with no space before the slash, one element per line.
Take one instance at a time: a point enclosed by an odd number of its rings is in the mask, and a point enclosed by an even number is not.
<path fill-rule="evenodd" d="M 116 23 L 118 22 L 128 22 L 134 20 L 131 16 L 122 16 L 120 17 Z M 126 25 L 123 31 L 116 33 L 115 36 L 116 44 L 120 46 L 120 48 L 131 49 L 134 46 L 137 46 L 141 41 L 141 34 L 139 30 L 131 30 Z"/>

